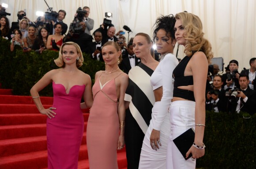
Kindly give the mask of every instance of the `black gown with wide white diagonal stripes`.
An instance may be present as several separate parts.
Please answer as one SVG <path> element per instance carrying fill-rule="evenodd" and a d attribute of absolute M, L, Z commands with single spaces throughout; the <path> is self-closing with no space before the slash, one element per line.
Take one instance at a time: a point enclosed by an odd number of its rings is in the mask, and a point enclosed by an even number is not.
<path fill-rule="evenodd" d="M 140 63 L 129 71 L 129 85 L 125 92 L 125 101 L 129 108 L 125 115 L 125 145 L 128 167 L 138 169 L 139 157 L 145 133 L 150 124 L 154 93 L 150 83 L 154 71 Z"/>

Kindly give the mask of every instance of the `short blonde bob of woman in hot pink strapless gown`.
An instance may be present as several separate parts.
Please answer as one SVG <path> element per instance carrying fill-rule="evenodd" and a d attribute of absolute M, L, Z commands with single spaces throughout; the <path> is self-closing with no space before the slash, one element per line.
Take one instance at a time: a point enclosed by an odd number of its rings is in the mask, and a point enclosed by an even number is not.
<path fill-rule="evenodd" d="M 77 54 L 79 54 L 79 60 L 76 60 L 76 67 L 77 68 L 81 67 L 83 65 L 83 54 L 82 54 L 82 51 L 81 51 L 79 45 L 74 42 L 66 42 L 61 45 L 60 52 L 59 52 L 59 58 L 54 60 L 55 64 L 60 68 L 65 67 L 65 62 L 63 61 L 62 53 L 63 53 L 63 47 L 66 45 L 73 45 L 75 47 Z"/>

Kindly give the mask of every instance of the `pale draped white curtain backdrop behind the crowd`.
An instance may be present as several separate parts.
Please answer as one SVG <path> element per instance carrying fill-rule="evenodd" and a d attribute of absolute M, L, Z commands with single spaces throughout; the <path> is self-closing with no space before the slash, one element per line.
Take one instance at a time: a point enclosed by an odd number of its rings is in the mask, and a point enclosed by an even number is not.
<path fill-rule="evenodd" d="M 250 58 L 256 57 L 256 0 L 46 0 L 54 11 L 67 12 L 64 19 L 70 24 L 78 7 L 90 7 L 89 17 L 94 19 L 94 29 L 102 24 L 105 12 L 112 12 L 112 23 L 117 31 L 127 25 L 129 38 L 138 32 L 152 36 L 152 26 L 160 14 L 182 11 L 198 15 L 203 22 L 205 37 L 211 42 L 214 56 L 224 58 L 224 67 L 230 60 L 239 62 L 239 72 L 249 68 Z M 16 22 L 17 12 L 26 9 L 26 16 L 35 21 L 36 11 L 47 10 L 44 0 L 0 0 L 8 4 L 6 12 L 10 23 Z M 125 31 L 126 32 L 126 31 Z M 128 38 L 127 32 L 125 33 Z M 176 47 L 177 50 L 177 47 Z M 175 51 L 176 51 L 175 50 Z M 178 58 L 183 58 L 179 47 Z"/>

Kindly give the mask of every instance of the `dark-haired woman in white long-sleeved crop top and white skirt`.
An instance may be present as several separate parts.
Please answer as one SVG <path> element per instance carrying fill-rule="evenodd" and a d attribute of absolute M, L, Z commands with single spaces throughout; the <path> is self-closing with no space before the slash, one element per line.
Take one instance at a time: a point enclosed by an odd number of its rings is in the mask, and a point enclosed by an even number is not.
<path fill-rule="evenodd" d="M 172 72 L 178 65 L 173 55 L 176 43 L 173 15 L 160 16 L 154 24 L 154 42 L 161 60 L 151 76 L 155 104 L 150 126 L 145 134 L 139 160 L 139 169 L 166 169 L 166 151 L 170 134 L 168 108 L 173 98 Z"/>

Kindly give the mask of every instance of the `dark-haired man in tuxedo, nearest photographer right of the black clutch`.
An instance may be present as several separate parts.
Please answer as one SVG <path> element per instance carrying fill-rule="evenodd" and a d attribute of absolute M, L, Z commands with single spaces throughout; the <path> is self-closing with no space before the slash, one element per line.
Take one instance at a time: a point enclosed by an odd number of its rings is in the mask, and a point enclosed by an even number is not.
<path fill-rule="evenodd" d="M 206 91 L 206 110 L 226 111 L 227 98 L 225 97 L 225 90 L 222 89 L 222 84 L 222 76 L 215 75 L 211 89 Z"/>

